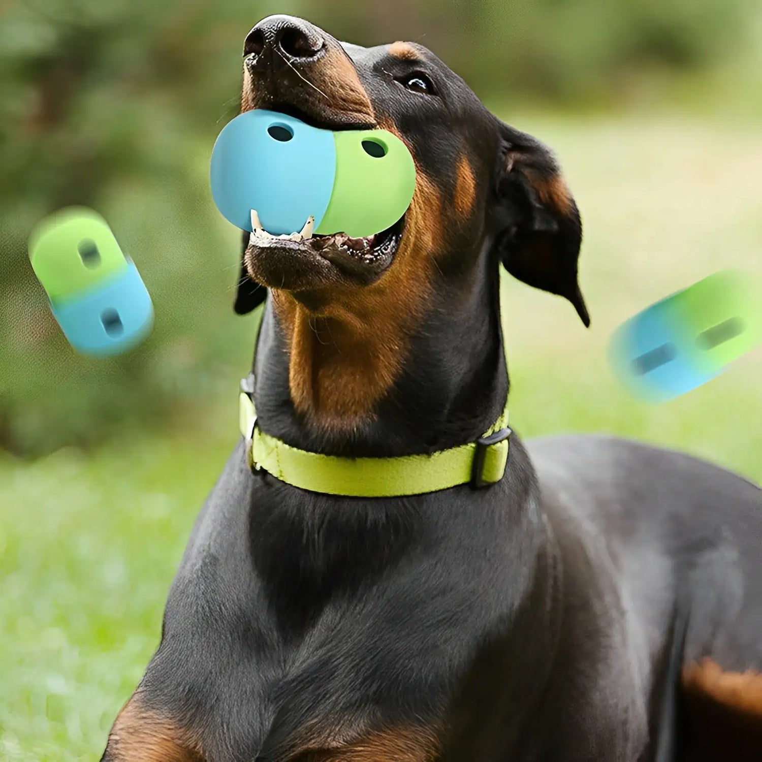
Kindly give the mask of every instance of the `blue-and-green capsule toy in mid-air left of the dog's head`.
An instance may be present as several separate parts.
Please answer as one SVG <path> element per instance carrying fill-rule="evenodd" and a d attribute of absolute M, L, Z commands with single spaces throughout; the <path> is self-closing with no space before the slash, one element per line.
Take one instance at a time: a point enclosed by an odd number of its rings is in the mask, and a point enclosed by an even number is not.
<path fill-rule="evenodd" d="M 99 214 L 71 207 L 46 217 L 30 236 L 29 258 L 77 351 L 120 354 L 149 334 L 151 297 Z"/>

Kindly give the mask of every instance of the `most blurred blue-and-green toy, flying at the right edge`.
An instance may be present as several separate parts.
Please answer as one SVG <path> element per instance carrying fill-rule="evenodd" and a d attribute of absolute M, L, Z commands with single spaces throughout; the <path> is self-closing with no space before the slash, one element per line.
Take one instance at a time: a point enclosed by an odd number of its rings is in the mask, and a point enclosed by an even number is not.
<path fill-rule="evenodd" d="M 755 291 L 742 274 L 722 271 L 662 299 L 615 331 L 613 370 L 650 402 L 702 386 L 762 342 Z"/>

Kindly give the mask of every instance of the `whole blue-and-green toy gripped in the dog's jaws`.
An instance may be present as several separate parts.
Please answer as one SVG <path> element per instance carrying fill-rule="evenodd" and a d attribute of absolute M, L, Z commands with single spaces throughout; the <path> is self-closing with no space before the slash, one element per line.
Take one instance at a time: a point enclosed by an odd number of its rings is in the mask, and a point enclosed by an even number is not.
<path fill-rule="evenodd" d="M 415 163 L 386 130 L 321 130 L 255 109 L 219 133 L 210 180 L 217 208 L 243 230 L 251 232 L 255 210 L 271 235 L 304 232 L 312 217 L 319 235 L 360 238 L 391 227 L 408 209 Z"/>

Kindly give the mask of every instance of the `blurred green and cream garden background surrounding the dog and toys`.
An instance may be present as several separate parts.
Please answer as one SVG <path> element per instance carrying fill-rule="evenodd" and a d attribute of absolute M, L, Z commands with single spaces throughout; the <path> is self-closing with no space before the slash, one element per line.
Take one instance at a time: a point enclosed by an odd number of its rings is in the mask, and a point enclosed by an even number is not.
<path fill-rule="evenodd" d="M 372 7 L 371 7 L 372 6 Z M 512 421 L 610 431 L 762 479 L 762 357 L 653 407 L 605 360 L 620 322 L 723 267 L 762 277 L 762 5 L 0 0 L 0 759 L 98 758 L 158 642 L 171 575 L 237 436 L 251 321 L 207 162 L 265 14 L 431 47 L 559 154 L 584 217 L 585 331 L 510 286 Z M 27 260 L 82 203 L 136 260 L 156 325 L 78 357 Z"/>

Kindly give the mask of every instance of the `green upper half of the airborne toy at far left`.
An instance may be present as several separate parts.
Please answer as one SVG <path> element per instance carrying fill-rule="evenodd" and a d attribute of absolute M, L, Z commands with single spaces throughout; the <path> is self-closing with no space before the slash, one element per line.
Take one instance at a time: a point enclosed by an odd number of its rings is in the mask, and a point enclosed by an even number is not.
<path fill-rule="evenodd" d="M 84 207 L 69 207 L 43 219 L 30 235 L 29 258 L 54 303 L 77 298 L 127 269 L 106 220 Z"/>

